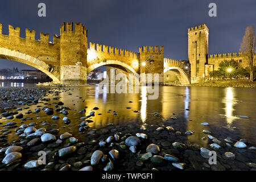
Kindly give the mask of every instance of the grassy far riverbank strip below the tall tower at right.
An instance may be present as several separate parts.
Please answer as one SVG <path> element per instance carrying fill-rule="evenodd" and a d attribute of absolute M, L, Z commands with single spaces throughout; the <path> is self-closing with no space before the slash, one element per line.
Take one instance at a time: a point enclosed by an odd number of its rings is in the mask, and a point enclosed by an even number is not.
<path fill-rule="evenodd" d="M 250 82 L 245 80 L 211 80 L 203 83 L 191 84 L 191 86 L 256 88 L 256 81 Z"/>

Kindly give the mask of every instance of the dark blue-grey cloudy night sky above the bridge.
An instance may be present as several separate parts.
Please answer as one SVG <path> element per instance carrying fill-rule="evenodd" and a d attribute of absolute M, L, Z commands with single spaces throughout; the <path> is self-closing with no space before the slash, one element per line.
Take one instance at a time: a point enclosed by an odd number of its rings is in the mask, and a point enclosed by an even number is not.
<path fill-rule="evenodd" d="M 38 16 L 38 3 L 46 3 L 46 17 Z M 217 4 L 217 17 L 208 16 L 208 5 Z M 88 42 L 139 52 L 141 46 L 164 46 L 164 57 L 187 60 L 187 28 L 207 24 L 209 54 L 238 52 L 246 26 L 256 24 L 255 0 L 90 0 L 1 1 L 3 34 L 8 24 L 53 35 L 63 22 L 81 22 L 88 29 Z M 32 68 L 0 60 L 0 69 Z"/>

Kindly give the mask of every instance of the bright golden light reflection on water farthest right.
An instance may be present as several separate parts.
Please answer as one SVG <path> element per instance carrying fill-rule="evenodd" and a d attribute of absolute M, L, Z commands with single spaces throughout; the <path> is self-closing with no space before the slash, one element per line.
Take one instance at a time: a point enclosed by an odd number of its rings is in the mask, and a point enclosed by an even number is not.
<path fill-rule="evenodd" d="M 236 118 L 233 116 L 233 105 L 234 105 L 234 88 L 226 88 L 226 97 L 225 97 L 225 115 L 226 121 L 230 125 L 232 124 L 233 120 Z"/>

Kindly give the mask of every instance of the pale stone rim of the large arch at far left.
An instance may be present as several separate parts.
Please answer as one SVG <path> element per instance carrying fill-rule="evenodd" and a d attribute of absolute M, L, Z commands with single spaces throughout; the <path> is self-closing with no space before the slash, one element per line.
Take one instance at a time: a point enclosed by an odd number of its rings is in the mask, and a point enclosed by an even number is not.
<path fill-rule="evenodd" d="M 0 59 L 13 60 L 30 65 L 31 67 L 46 73 L 46 75 L 52 78 L 53 82 L 60 82 L 60 74 L 58 71 L 53 70 L 48 64 L 44 63 L 44 61 L 26 55 L 26 53 L 0 47 Z"/>

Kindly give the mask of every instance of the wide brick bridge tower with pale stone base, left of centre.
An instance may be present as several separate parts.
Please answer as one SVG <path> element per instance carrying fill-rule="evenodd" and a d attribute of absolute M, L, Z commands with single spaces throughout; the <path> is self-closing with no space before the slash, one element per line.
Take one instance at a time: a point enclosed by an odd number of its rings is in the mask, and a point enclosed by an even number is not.
<path fill-rule="evenodd" d="M 87 30 L 81 23 L 63 23 L 60 27 L 61 84 L 85 84 Z"/>

